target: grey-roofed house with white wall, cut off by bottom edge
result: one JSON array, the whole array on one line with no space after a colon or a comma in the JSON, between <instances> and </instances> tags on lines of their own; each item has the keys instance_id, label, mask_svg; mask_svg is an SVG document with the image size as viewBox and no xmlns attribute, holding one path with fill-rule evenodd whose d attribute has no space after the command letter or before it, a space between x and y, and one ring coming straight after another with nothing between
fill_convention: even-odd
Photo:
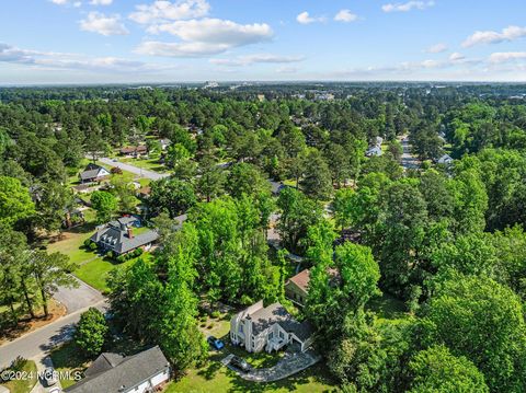
<instances>
[{"instance_id":1,"label":"grey-roofed house with white wall, cut off by bottom edge","mask_svg":"<svg viewBox=\"0 0 526 393\"><path fill-rule=\"evenodd\" d=\"M155 346L134 356L102 354L84 375L65 392L153 392L170 379L170 365L159 346Z\"/></svg>"}]
</instances>

